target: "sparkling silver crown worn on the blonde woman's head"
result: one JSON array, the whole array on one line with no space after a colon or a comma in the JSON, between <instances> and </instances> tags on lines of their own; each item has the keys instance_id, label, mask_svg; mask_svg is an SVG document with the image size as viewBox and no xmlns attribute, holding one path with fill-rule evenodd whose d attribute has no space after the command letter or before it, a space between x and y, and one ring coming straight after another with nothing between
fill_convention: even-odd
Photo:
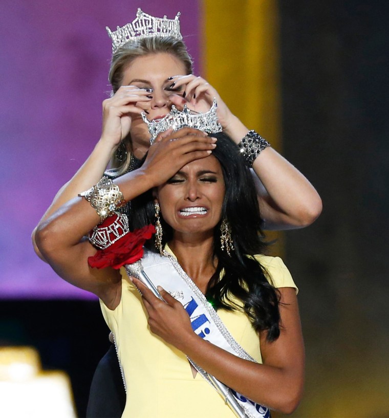
<instances>
[{"instance_id":1,"label":"sparkling silver crown worn on the blonde woman's head","mask_svg":"<svg viewBox=\"0 0 389 418\"><path fill-rule=\"evenodd\" d=\"M154 17L144 13L140 8L137 11L137 17L121 28L118 26L117 30L112 32L109 27L105 27L110 38L112 39L112 53L114 54L124 43L135 40L151 37L172 36L181 40L180 32L180 12L177 13L174 19L168 19L165 16Z\"/></svg>"}]
</instances>

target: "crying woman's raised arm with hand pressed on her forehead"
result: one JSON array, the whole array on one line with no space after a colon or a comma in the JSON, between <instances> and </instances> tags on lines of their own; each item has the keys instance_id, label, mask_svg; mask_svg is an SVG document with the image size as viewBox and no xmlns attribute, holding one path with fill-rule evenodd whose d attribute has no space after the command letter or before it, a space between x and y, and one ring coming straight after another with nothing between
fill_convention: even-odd
<instances>
[{"instance_id":1,"label":"crying woman's raised arm with hand pressed on her forehead","mask_svg":"<svg viewBox=\"0 0 389 418\"><path fill-rule=\"evenodd\" d=\"M167 181L188 162L209 156L214 146L212 138L204 133L184 128L156 141L143 166L118 178L115 183L126 201L133 200ZM87 262L96 250L84 236L99 221L90 203L75 197L39 223L35 241L42 256L60 277L96 294L113 308L120 300L118 272L90 269Z\"/></svg>"}]
</instances>

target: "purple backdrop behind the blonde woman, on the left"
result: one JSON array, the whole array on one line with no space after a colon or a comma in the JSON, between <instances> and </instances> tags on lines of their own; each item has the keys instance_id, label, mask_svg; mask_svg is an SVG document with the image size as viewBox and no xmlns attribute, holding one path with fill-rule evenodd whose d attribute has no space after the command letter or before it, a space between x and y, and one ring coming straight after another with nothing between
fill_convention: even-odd
<instances>
[{"instance_id":1,"label":"purple backdrop behind the blonde woman, on the left","mask_svg":"<svg viewBox=\"0 0 389 418\"><path fill-rule=\"evenodd\" d=\"M111 40L137 8L174 18L199 66L199 5L123 0L15 0L0 13L0 298L93 297L38 259L31 231L99 139Z\"/></svg>"}]
</instances>

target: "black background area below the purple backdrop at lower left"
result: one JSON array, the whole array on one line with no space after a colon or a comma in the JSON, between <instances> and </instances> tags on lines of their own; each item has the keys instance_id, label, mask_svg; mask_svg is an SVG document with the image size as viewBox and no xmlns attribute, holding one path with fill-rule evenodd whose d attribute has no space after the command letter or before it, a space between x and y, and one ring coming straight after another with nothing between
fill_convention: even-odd
<instances>
[{"instance_id":1,"label":"black background area below the purple backdrop at lower left","mask_svg":"<svg viewBox=\"0 0 389 418\"><path fill-rule=\"evenodd\" d=\"M33 346L42 369L66 371L78 416L85 416L93 373L111 344L99 302L3 300L0 318L0 344Z\"/></svg>"}]
</instances>

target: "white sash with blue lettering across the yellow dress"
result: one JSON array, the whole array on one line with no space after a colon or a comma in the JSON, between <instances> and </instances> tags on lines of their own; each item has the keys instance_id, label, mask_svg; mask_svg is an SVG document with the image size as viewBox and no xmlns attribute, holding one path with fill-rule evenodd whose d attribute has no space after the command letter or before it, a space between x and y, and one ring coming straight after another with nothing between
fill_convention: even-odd
<instances>
[{"instance_id":1,"label":"white sash with blue lettering across the yellow dress","mask_svg":"<svg viewBox=\"0 0 389 418\"><path fill-rule=\"evenodd\" d=\"M174 257L166 251L163 257L145 249L141 262L143 266L142 274L144 275L145 273L146 281L152 282L151 284L149 282L145 284L149 288L150 286L154 287L154 289L160 285L171 296L181 302L189 315L192 329L198 336L237 357L256 362L234 340L212 305ZM125 268L129 276L134 275L131 265L126 265ZM135 275L139 276L138 274ZM142 281L145 280L143 279ZM213 376L208 375L205 370L190 359L188 360L200 375L221 394L236 416L240 418L270 418L270 410L267 407L247 399L242 394L219 382Z\"/></svg>"}]
</instances>

